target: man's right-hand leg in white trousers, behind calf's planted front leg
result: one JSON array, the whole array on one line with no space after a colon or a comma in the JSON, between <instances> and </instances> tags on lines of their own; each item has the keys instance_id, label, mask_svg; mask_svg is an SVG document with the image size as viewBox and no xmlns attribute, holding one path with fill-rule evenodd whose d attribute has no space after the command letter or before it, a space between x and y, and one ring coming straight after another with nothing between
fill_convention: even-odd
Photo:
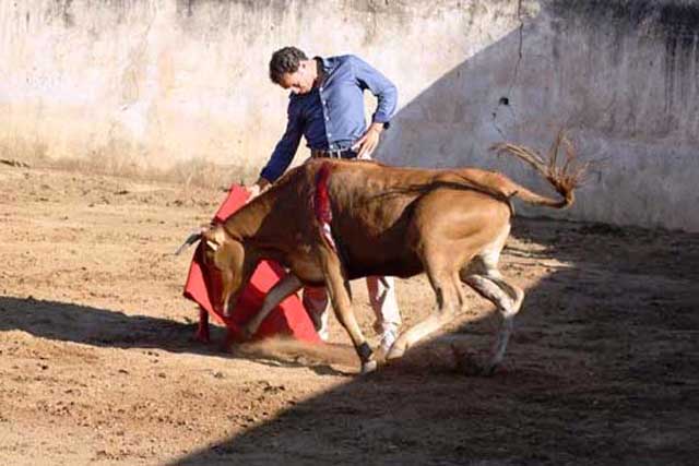
<instances>
[{"instance_id":1,"label":"man's right-hand leg in white trousers, behind calf's planted front leg","mask_svg":"<svg viewBox=\"0 0 699 466\"><path fill-rule=\"evenodd\" d=\"M380 348L386 354L398 338L398 328L401 326L401 312L395 299L395 280L393 277L367 277L367 291L369 303L376 315L374 330L381 335Z\"/></svg>"}]
</instances>

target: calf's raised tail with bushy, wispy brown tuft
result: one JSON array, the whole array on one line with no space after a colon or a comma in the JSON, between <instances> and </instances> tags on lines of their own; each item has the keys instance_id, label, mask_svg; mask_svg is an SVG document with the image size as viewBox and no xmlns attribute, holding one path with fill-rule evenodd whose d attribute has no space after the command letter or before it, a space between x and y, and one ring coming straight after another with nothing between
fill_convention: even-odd
<instances>
[{"instance_id":1,"label":"calf's raised tail with bushy, wispy brown tuft","mask_svg":"<svg viewBox=\"0 0 699 466\"><path fill-rule=\"evenodd\" d=\"M562 164L558 164L558 153L561 147L565 152L565 160ZM562 199L537 194L513 181L513 187L508 190L511 196L519 198L530 204L552 208L566 208L576 201L574 190L584 180L589 168L589 164L576 162L576 151L562 131L558 133L556 141L548 151L548 160L544 160L536 152L521 145L501 143L494 145L491 150L498 154L510 154L526 162L546 178Z\"/></svg>"}]
</instances>

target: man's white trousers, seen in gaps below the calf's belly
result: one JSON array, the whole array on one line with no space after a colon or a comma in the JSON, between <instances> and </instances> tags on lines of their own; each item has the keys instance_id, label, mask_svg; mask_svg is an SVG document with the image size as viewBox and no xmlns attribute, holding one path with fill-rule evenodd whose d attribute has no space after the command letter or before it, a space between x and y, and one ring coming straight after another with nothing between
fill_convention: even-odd
<instances>
[{"instance_id":1,"label":"man's white trousers, seen in gaps below the calf's belly","mask_svg":"<svg viewBox=\"0 0 699 466\"><path fill-rule=\"evenodd\" d=\"M376 321L374 330L378 334L395 331L401 325L401 312L395 300L395 280L393 277L367 277L369 303ZM305 287L304 307L308 311L318 334L328 339L328 291L325 287Z\"/></svg>"}]
</instances>

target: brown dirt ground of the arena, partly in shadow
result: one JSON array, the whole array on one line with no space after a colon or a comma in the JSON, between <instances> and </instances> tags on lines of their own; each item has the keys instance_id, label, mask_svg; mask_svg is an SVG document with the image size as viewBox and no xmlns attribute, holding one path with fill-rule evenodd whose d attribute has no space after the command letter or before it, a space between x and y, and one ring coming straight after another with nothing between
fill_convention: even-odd
<instances>
[{"instance_id":1,"label":"brown dirt ground of the arena, partly in shadow","mask_svg":"<svg viewBox=\"0 0 699 466\"><path fill-rule=\"evenodd\" d=\"M442 335L358 377L334 320L332 345L192 340L171 252L223 196L0 165L0 465L699 461L699 235L517 218L505 367L460 371L452 348L486 351L497 323L469 291ZM424 277L398 287L406 325L433 308Z\"/></svg>"}]
</instances>

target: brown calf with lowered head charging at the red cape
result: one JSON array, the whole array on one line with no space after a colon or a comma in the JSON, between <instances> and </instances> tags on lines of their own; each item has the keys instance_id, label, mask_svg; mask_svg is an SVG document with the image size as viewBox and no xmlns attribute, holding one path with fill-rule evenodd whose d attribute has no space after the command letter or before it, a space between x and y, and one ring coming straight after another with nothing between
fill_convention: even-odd
<instances>
[{"instance_id":1,"label":"brown calf with lowered head charging at the red cape","mask_svg":"<svg viewBox=\"0 0 699 466\"><path fill-rule=\"evenodd\" d=\"M235 304L259 261L277 261L291 273L270 291L248 332L254 333L266 313L303 285L325 285L362 360L362 371L368 372L377 365L352 311L348 280L425 272L437 309L402 333L387 358L401 357L452 319L464 306L464 283L494 302L502 316L491 358L483 368L491 371L502 360L512 318L524 298L497 268L510 232L510 200L554 208L572 204L582 169L572 170L570 159L564 168L556 165L561 142L570 150L559 136L548 164L524 147L495 147L531 164L562 195L560 200L475 168L427 170L371 162L310 160L198 237L206 241L206 262L221 271L224 312ZM329 205L319 205L325 196Z\"/></svg>"}]
</instances>

